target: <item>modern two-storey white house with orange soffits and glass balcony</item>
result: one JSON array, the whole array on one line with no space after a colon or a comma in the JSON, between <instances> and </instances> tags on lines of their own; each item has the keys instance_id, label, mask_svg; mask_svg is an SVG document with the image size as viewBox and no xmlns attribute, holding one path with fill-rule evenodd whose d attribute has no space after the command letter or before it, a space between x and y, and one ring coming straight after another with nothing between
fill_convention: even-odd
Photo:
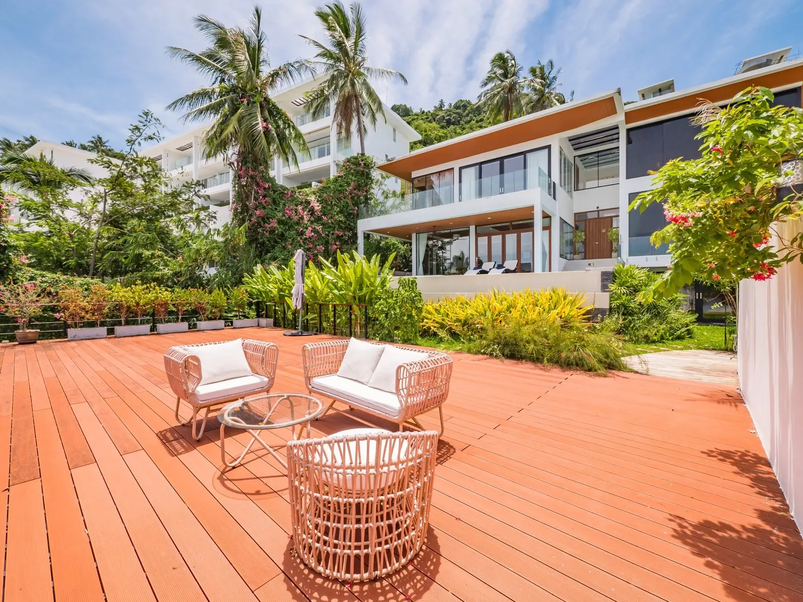
<instances>
[{"instance_id":1,"label":"modern two-storey white house with orange soffits and glass balcony","mask_svg":"<svg viewBox=\"0 0 803 602\"><path fill-rule=\"evenodd\" d=\"M666 269L666 246L650 244L666 225L662 206L628 212L630 202L653 187L649 170L700 157L689 120L700 100L726 103L760 85L777 104L800 107L803 59L788 56L746 59L735 75L694 88L658 83L628 104L620 90L604 92L386 161L379 169L410 193L363 215L358 240L410 241L417 276L462 275L487 261L516 261L519 273L618 261Z\"/></svg>"}]
</instances>

